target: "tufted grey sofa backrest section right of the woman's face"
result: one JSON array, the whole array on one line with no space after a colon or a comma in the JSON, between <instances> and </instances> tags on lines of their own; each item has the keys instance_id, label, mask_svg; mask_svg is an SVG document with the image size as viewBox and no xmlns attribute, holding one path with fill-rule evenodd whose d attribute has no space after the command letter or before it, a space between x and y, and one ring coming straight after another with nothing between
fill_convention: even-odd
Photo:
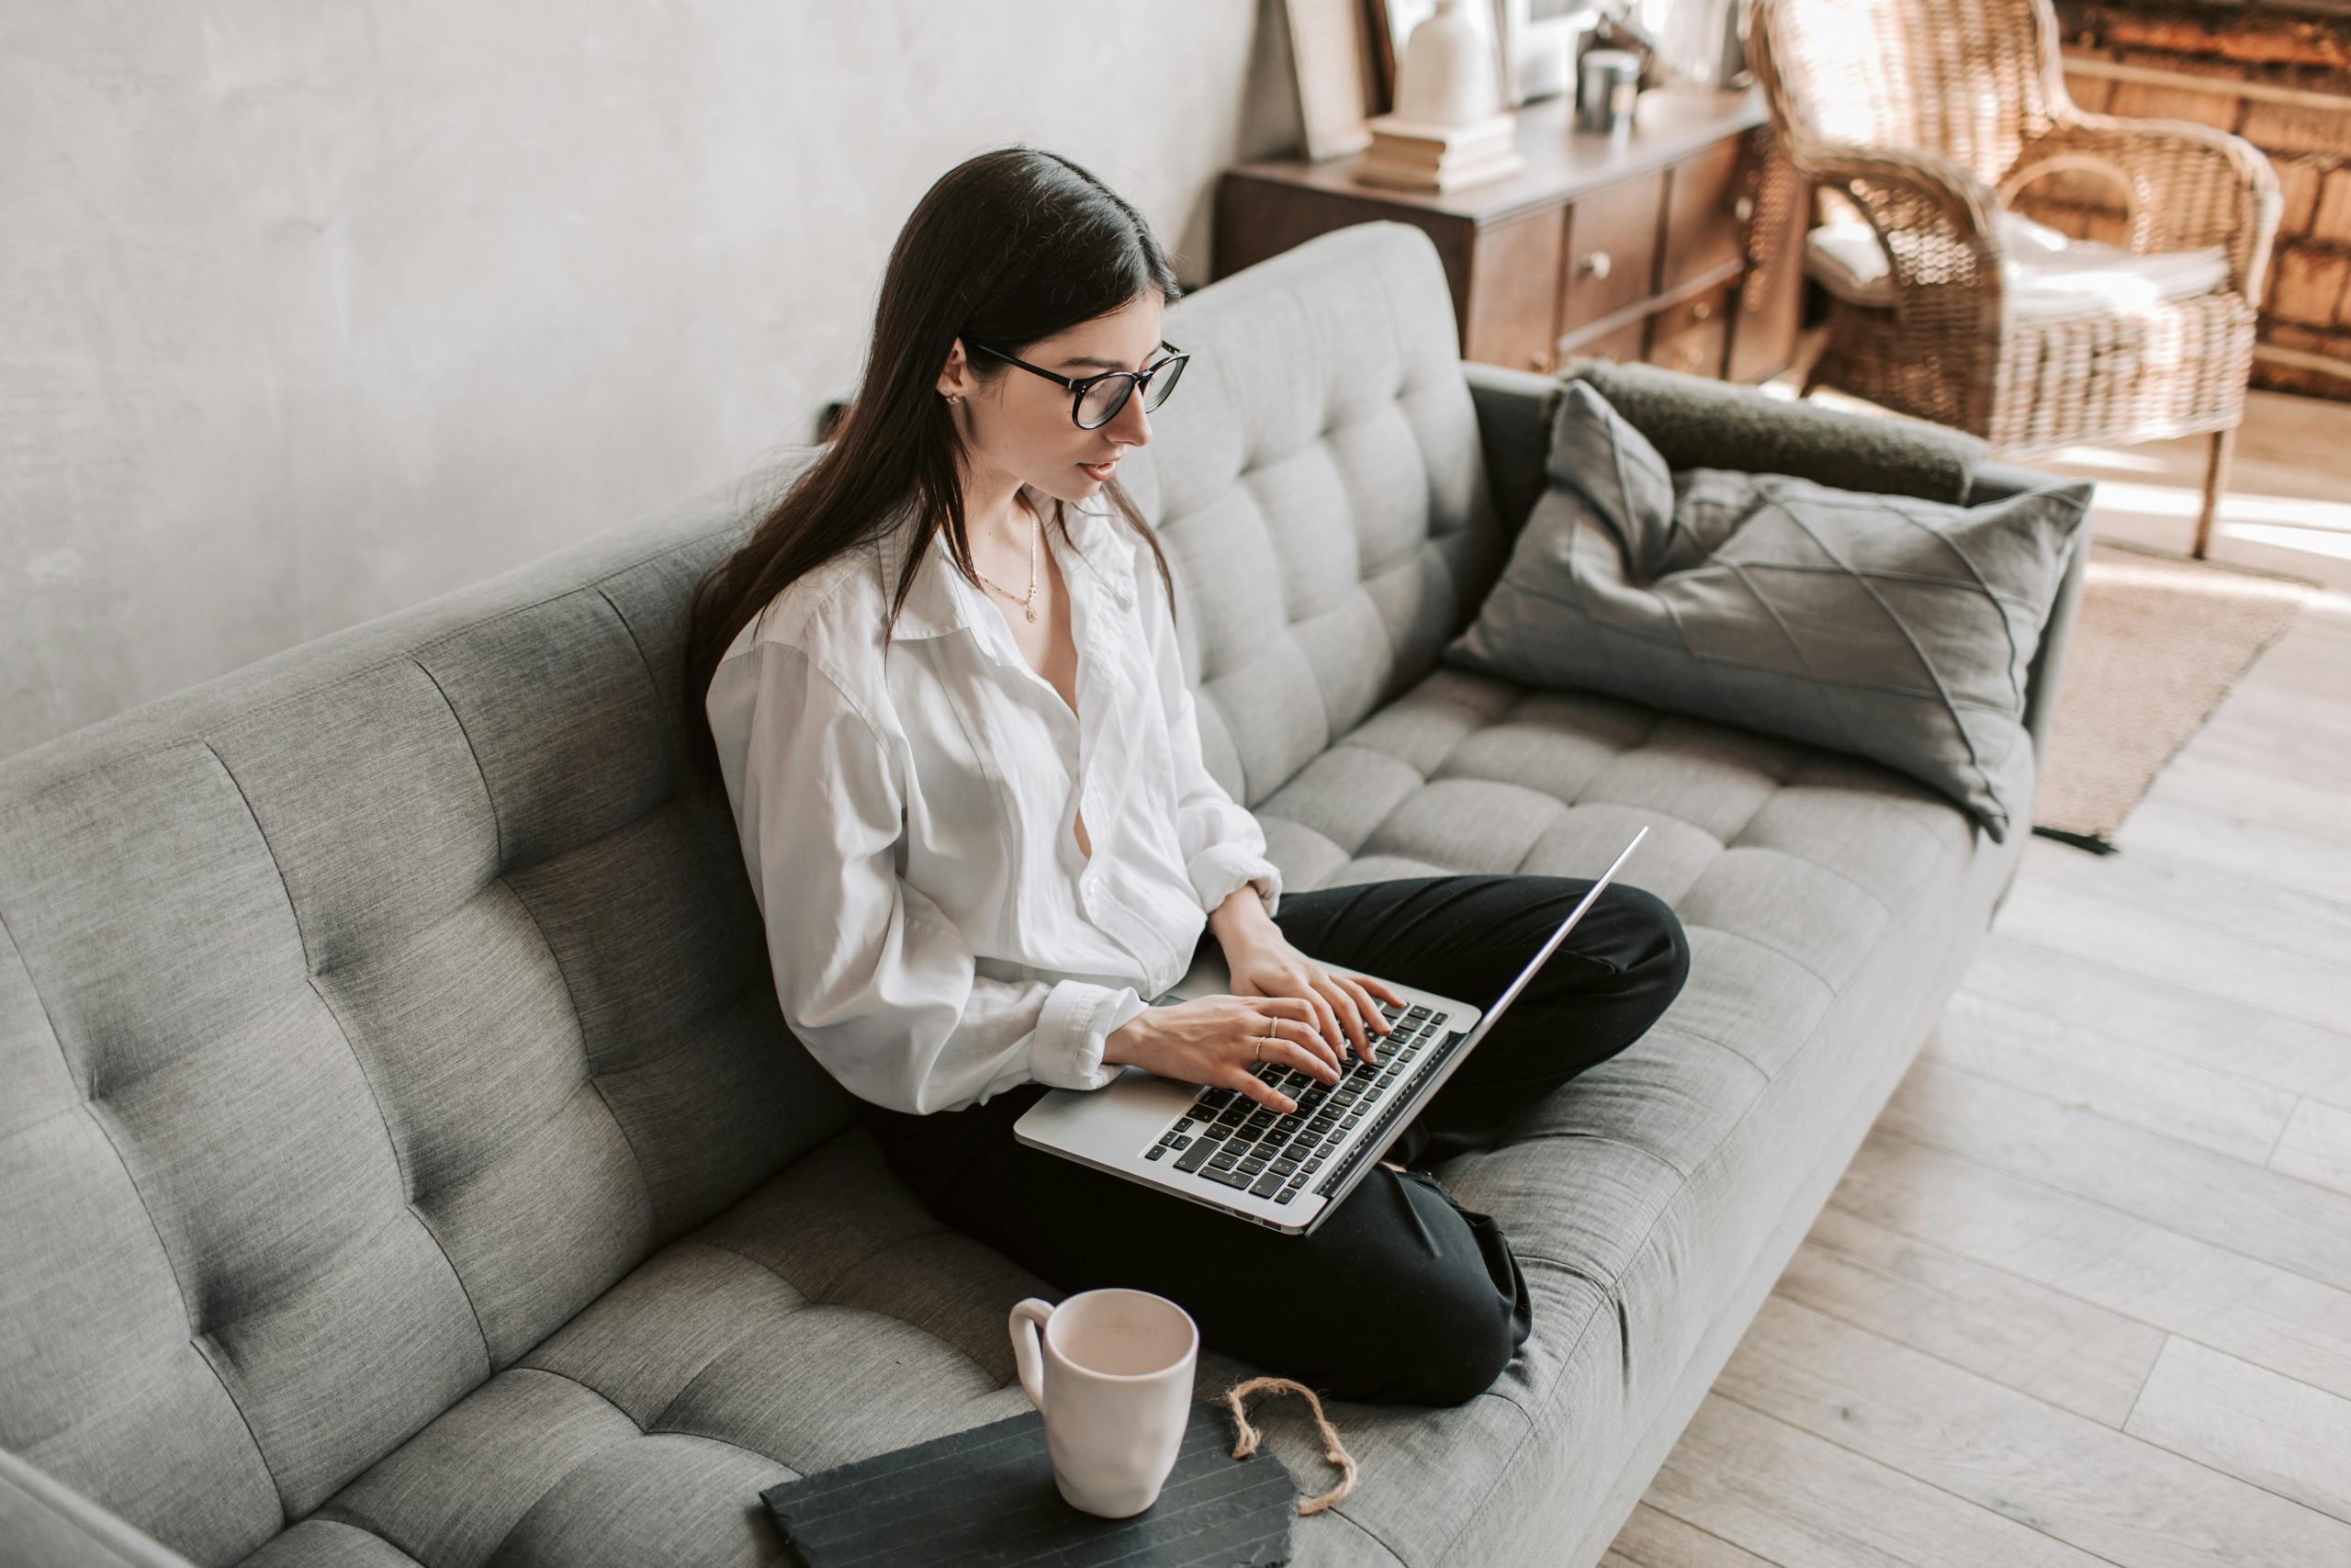
<instances>
[{"instance_id":1,"label":"tufted grey sofa backrest section right of the woman's face","mask_svg":"<svg viewBox=\"0 0 2351 1568\"><path fill-rule=\"evenodd\" d=\"M1509 541L1444 263L1340 228L1178 301L1192 353L1121 470L1176 576L1201 750L1255 806L1418 682Z\"/></svg>"}]
</instances>

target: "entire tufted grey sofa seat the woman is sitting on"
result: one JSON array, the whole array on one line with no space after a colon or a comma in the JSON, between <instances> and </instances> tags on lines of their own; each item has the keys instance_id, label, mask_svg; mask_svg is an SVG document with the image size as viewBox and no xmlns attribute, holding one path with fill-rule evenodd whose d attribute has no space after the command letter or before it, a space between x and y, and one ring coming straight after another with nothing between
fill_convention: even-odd
<instances>
[{"instance_id":1,"label":"entire tufted grey sofa seat the woman is sitting on","mask_svg":"<svg viewBox=\"0 0 2351 1568\"><path fill-rule=\"evenodd\" d=\"M1888 997L1940 994L1940 926L1970 919L1965 884L2015 846L1855 757L1458 668L1258 818L1298 889L1592 875L1648 823L1627 879L1690 936L1690 980L1657 1027L1533 1105L1502 1147L1436 1171L1519 1251L1535 1293L1519 1359L1460 1408L1331 1406L1364 1481L1300 1521L1298 1561L1472 1561L1483 1502L1523 1469L1568 1465L1561 1497L1606 1483L1556 1455L1629 1441L1615 1422L1679 1375L1768 1229L1747 1208L1784 1206L1824 1128L1850 1121L1846 1100L1883 1077L1871 1051L1907 1027L1886 1023ZM759 1488L1025 1408L1004 1333L1023 1295L1056 1293L938 1225L851 1128L249 1561L781 1561ZM1199 1392L1253 1371L1204 1347ZM1319 1486L1288 1403L1270 1441Z\"/></svg>"}]
</instances>

